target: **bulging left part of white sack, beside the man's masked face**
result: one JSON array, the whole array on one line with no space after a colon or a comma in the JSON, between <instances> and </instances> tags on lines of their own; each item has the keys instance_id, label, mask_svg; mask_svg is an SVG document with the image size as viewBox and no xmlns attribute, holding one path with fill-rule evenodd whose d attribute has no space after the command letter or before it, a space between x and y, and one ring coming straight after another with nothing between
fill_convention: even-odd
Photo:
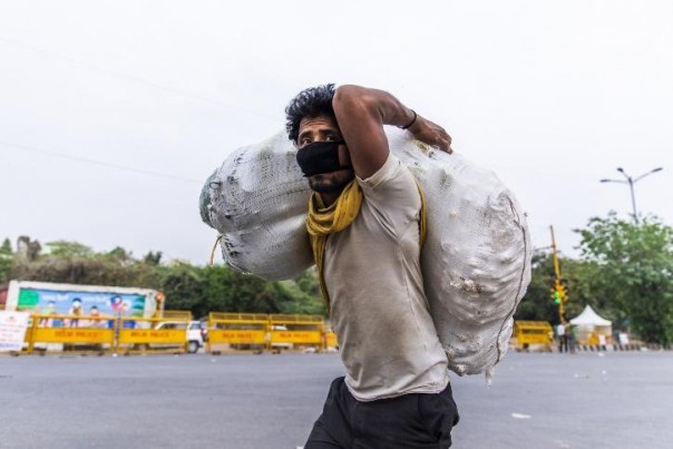
<instances>
[{"instance_id":1,"label":"bulging left part of white sack, beside the man's masked face","mask_svg":"<svg viewBox=\"0 0 673 449\"><path fill-rule=\"evenodd\" d=\"M226 158L202 189L201 217L220 231L227 265L270 281L292 279L313 265L310 196L296 149L281 131Z\"/></svg>"}]
</instances>

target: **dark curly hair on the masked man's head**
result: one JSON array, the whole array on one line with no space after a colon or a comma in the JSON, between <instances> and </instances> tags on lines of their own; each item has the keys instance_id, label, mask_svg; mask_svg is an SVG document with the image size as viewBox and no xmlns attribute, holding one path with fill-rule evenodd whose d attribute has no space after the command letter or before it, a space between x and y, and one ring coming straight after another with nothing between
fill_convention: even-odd
<instances>
[{"instance_id":1,"label":"dark curly hair on the masked man's head","mask_svg":"<svg viewBox=\"0 0 673 449\"><path fill-rule=\"evenodd\" d=\"M299 92L285 108L285 129L290 140L296 141L299 137L299 124L302 118L315 118L328 116L335 119L332 99L334 98L334 85L310 87Z\"/></svg>"}]
</instances>

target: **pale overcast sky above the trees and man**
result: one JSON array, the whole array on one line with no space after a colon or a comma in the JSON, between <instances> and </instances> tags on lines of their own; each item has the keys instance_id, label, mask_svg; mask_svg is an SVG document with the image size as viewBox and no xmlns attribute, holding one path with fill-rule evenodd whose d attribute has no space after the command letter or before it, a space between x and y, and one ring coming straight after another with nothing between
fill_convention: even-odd
<instances>
[{"instance_id":1,"label":"pale overcast sky above the trees and man","mask_svg":"<svg viewBox=\"0 0 673 449\"><path fill-rule=\"evenodd\" d=\"M673 224L673 2L0 0L0 237L205 263L205 178L324 82L442 125L577 256L573 228Z\"/></svg>"}]
</instances>

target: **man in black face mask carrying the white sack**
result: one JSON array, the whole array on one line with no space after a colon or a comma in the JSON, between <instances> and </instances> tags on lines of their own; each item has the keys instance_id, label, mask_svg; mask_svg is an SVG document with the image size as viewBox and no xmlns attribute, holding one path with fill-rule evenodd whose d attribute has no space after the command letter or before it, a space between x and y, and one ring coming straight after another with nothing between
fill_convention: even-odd
<instances>
[{"instance_id":1,"label":"man in black face mask carrying the white sack","mask_svg":"<svg viewBox=\"0 0 673 449\"><path fill-rule=\"evenodd\" d=\"M447 448L458 411L423 291L423 193L383 126L447 153L451 138L390 94L358 86L306 89L285 111L313 191L306 230L347 372L305 448Z\"/></svg>"}]
</instances>

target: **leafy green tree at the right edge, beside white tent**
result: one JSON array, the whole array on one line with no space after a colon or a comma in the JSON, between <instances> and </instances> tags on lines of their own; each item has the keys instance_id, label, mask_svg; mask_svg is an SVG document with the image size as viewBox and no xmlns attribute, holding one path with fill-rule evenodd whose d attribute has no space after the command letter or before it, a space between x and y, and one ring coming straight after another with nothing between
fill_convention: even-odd
<instances>
[{"instance_id":1,"label":"leafy green tree at the right edge, beside white tent","mask_svg":"<svg viewBox=\"0 0 673 449\"><path fill-rule=\"evenodd\" d=\"M673 342L673 228L657 218L634 224L611 213L577 232L589 263L588 290L602 295L615 324L631 324L646 342Z\"/></svg>"}]
</instances>

